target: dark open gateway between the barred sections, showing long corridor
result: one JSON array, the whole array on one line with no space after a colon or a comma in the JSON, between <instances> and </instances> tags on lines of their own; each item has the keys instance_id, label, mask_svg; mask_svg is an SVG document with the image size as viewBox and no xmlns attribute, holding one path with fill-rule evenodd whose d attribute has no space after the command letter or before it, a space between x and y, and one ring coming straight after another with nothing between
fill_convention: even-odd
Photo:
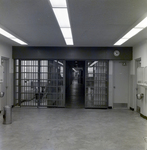
<instances>
[{"instance_id":1,"label":"dark open gateway between the barred sections, showing long corridor","mask_svg":"<svg viewBox=\"0 0 147 150\"><path fill-rule=\"evenodd\" d=\"M85 61L66 61L66 107L85 107Z\"/></svg>"}]
</instances>

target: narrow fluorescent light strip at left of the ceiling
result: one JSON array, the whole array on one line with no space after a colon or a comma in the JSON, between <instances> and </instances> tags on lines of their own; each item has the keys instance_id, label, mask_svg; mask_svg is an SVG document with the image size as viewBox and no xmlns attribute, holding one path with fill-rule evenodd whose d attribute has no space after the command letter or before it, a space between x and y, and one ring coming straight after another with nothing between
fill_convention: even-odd
<instances>
[{"instance_id":1,"label":"narrow fluorescent light strip at left of the ceiling","mask_svg":"<svg viewBox=\"0 0 147 150\"><path fill-rule=\"evenodd\" d=\"M5 31L4 29L0 28L0 34L9 38L10 40L17 42L21 45L28 45L27 43L23 42L22 40L16 38L15 36L13 36L12 34L10 34L9 32Z\"/></svg>"}]
</instances>

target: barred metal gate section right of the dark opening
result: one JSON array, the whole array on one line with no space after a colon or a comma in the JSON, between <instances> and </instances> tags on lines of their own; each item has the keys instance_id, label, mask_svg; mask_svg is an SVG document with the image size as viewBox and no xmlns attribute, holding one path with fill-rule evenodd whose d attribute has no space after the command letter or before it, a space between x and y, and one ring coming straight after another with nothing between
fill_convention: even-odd
<instances>
[{"instance_id":1,"label":"barred metal gate section right of the dark opening","mask_svg":"<svg viewBox=\"0 0 147 150\"><path fill-rule=\"evenodd\" d=\"M86 61L85 107L108 107L108 61Z\"/></svg>"}]
</instances>

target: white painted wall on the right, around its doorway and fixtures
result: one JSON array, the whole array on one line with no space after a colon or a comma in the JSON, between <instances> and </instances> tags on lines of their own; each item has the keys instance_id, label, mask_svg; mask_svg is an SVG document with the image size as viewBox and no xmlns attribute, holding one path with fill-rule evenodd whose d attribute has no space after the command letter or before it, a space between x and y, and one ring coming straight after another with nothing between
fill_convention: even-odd
<instances>
[{"instance_id":1,"label":"white painted wall on the right, around its doorway and fixtures","mask_svg":"<svg viewBox=\"0 0 147 150\"><path fill-rule=\"evenodd\" d=\"M142 43L139 43L138 45L133 47L133 60L130 63L130 75L135 76L135 60L141 58L141 67L147 66L147 40L143 41ZM136 110L136 103L135 103L135 78L133 79L133 90L132 90L132 98L130 99L130 104L132 108ZM140 87L140 92L144 93L145 98L140 101L140 107L141 107L141 114L147 116L147 90L145 90L143 87Z\"/></svg>"}]
</instances>

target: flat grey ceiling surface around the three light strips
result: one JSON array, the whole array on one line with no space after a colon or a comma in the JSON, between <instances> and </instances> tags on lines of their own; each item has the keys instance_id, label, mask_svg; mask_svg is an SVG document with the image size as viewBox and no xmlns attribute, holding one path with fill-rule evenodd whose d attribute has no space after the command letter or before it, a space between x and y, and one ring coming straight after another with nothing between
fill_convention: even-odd
<instances>
[{"instance_id":1,"label":"flat grey ceiling surface around the three light strips","mask_svg":"<svg viewBox=\"0 0 147 150\"><path fill-rule=\"evenodd\" d=\"M67 0L74 46L113 46L147 13L147 0ZM66 46L48 0L1 0L0 26L29 46ZM147 38L147 30L122 46ZM18 45L0 35L9 45Z\"/></svg>"}]
</instances>

